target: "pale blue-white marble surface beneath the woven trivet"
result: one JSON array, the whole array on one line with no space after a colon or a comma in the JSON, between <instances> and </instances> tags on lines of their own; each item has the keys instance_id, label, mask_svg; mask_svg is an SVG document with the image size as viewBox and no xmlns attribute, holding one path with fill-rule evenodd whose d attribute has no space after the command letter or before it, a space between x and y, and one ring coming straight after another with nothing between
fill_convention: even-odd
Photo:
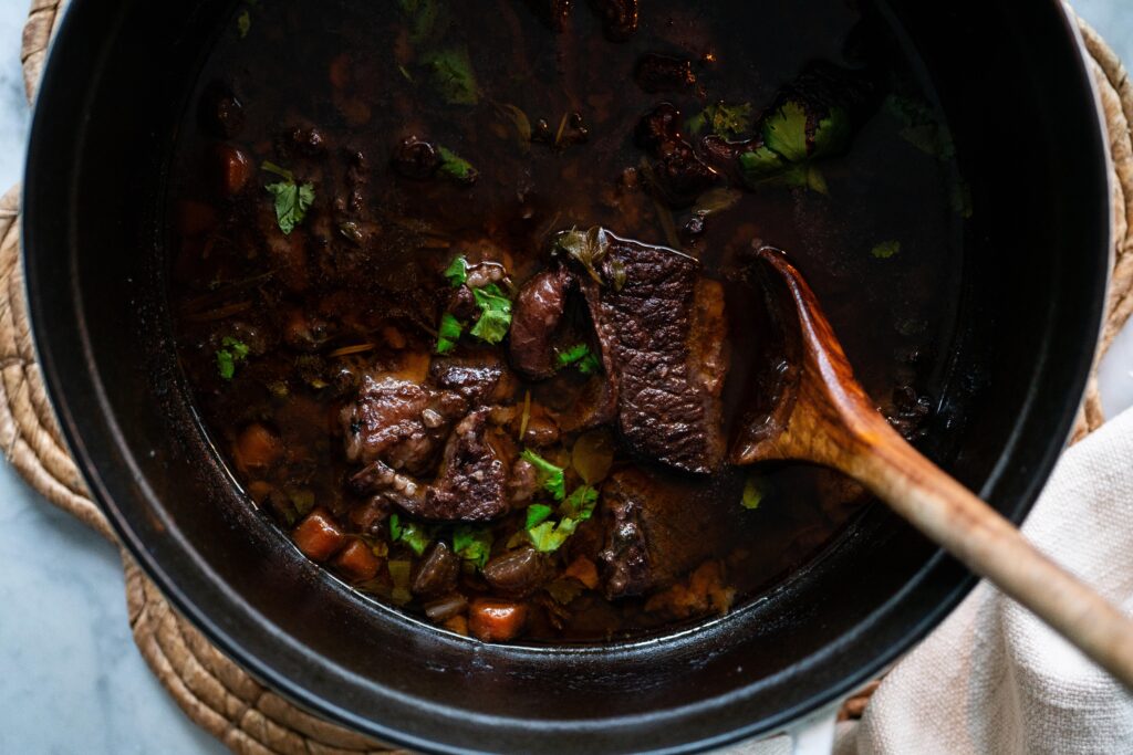
<instances>
[{"instance_id":1,"label":"pale blue-white marble surface beneath the woven trivet","mask_svg":"<svg viewBox=\"0 0 1133 755\"><path fill-rule=\"evenodd\" d=\"M0 190L19 180L27 0L0 0ZM1133 2L1079 0L1125 60ZM1133 405L1133 328L1104 366L1106 410ZM0 753L223 753L150 675L130 638L118 556L0 464Z\"/></svg>"}]
</instances>

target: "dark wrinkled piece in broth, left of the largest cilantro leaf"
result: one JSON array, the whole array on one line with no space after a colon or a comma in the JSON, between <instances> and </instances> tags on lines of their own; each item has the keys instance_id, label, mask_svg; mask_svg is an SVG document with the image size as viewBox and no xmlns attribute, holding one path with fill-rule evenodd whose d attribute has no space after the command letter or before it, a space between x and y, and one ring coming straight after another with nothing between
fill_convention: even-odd
<instances>
[{"instance_id":1,"label":"dark wrinkled piece in broth, left of the largest cilantro leaf","mask_svg":"<svg viewBox=\"0 0 1133 755\"><path fill-rule=\"evenodd\" d=\"M638 144L649 152L653 163L653 188L673 207L684 207L710 189L719 173L697 156L681 134L681 112L662 104L638 125Z\"/></svg>"}]
</instances>

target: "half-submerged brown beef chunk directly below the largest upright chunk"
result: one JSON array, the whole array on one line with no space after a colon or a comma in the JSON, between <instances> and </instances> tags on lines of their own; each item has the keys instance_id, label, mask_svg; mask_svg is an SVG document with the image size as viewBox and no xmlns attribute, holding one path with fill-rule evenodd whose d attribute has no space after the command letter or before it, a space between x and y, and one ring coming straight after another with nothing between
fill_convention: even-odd
<instances>
[{"instance_id":1,"label":"half-submerged brown beef chunk directly below the largest upright chunk","mask_svg":"<svg viewBox=\"0 0 1133 755\"><path fill-rule=\"evenodd\" d=\"M615 472L603 486L605 543L598 558L608 598L666 587L742 537L743 478L725 472L708 484L649 470Z\"/></svg>"}]
</instances>

